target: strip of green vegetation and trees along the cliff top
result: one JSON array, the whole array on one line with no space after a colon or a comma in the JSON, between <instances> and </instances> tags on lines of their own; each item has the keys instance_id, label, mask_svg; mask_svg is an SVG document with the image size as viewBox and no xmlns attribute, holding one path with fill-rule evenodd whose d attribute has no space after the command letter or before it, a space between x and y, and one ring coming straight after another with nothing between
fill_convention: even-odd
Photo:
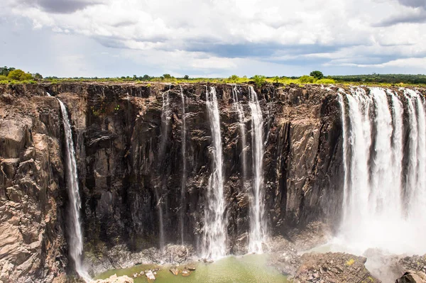
<instances>
[{"instance_id":1,"label":"strip of green vegetation and trees along the cliff top","mask_svg":"<svg viewBox=\"0 0 426 283\"><path fill-rule=\"evenodd\" d=\"M138 77L134 74L132 77L73 77L73 78L59 78L59 77L43 77L38 74L30 74L22 70L16 70L13 67L0 67L0 84L23 84L36 82L45 82L56 84L59 82L136 82L137 84L146 84L149 82L166 82L166 83L228 83L228 84L243 84L253 82L258 87L266 83L275 84L366 84L366 85L425 85L425 74L360 74L360 75L347 75L347 76L327 76L320 71L312 71L309 75L302 77L265 77L256 74L253 77L239 77L236 74L228 78L192 78L188 75L183 77L173 77L170 74L163 74L160 77L151 77L145 74Z\"/></svg>"}]
</instances>

